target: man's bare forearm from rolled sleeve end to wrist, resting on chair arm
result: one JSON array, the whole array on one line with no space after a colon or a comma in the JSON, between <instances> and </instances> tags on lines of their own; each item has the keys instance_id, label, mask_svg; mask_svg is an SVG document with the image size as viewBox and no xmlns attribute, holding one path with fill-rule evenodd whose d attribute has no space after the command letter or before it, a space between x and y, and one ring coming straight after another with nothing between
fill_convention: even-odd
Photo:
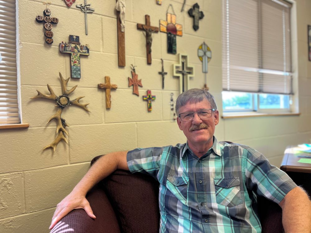
<instances>
[{"instance_id":1,"label":"man's bare forearm from rolled sleeve end to wrist, resting on chair arm","mask_svg":"<svg viewBox=\"0 0 311 233\"><path fill-rule=\"evenodd\" d=\"M75 186L72 192L85 196L95 184L109 176L116 169L128 170L126 154L127 151L114 152L99 158Z\"/></svg>"}]
</instances>

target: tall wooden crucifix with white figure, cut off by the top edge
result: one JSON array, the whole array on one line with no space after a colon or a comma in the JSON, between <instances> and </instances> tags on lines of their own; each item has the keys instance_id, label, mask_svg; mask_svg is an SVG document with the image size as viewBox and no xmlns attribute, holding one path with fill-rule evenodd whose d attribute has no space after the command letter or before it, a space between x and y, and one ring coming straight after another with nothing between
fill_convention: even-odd
<instances>
[{"instance_id":1,"label":"tall wooden crucifix with white figure, cut off by the top edge","mask_svg":"<svg viewBox=\"0 0 311 233\"><path fill-rule=\"evenodd\" d=\"M125 2L116 0L118 31L118 66L125 66Z\"/></svg>"}]
</instances>

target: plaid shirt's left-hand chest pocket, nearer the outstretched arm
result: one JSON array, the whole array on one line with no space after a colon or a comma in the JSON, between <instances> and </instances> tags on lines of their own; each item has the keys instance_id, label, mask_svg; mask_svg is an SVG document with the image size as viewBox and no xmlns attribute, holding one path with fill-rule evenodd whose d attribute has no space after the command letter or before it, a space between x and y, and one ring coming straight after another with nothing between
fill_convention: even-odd
<instances>
[{"instance_id":1,"label":"plaid shirt's left-hand chest pocket, nearer the outstretched arm","mask_svg":"<svg viewBox=\"0 0 311 233\"><path fill-rule=\"evenodd\" d=\"M188 176L167 176L166 188L180 201L188 199Z\"/></svg>"}]
</instances>

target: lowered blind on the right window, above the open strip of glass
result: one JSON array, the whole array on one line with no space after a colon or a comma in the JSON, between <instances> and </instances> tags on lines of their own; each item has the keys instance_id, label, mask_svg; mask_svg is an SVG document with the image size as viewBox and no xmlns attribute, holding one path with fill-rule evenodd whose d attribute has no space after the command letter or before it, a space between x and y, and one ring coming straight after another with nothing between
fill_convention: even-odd
<instances>
[{"instance_id":1,"label":"lowered blind on the right window, above the open strip of glass","mask_svg":"<svg viewBox=\"0 0 311 233\"><path fill-rule=\"evenodd\" d=\"M293 94L290 8L283 0L223 0L223 90Z\"/></svg>"}]
</instances>

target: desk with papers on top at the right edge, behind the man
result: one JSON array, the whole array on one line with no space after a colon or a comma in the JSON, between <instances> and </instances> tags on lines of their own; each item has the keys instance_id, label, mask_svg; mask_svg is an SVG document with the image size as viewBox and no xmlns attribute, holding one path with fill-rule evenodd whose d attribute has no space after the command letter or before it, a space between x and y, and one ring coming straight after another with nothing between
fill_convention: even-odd
<instances>
[{"instance_id":1,"label":"desk with papers on top at the right edge, behind the man","mask_svg":"<svg viewBox=\"0 0 311 233\"><path fill-rule=\"evenodd\" d=\"M301 185L309 194L311 194L311 164L298 162L298 156L307 155L311 153L297 152L296 146L289 146L284 152L283 161L281 163L281 170L285 171L287 175L297 184Z\"/></svg>"}]
</instances>

